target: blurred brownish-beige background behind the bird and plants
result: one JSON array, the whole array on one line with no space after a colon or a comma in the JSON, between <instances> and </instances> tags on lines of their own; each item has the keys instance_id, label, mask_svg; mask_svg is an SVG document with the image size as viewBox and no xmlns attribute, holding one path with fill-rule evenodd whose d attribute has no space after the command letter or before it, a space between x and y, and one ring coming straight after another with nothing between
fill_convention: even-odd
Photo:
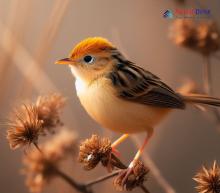
<instances>
[{"instance_id":1,"label":"blurred brownish-beige background behind the bird and plants","mask_svg":"<svg viewBox=\"0 0 220 193\"><path fill-rule=\"evenodd\" d=\"M220 25L220 1L162 0L0 0L0 119L24 101L38 95L58 91L67 97L63 112L65 125L75 130L79 139L100 134L112 139L119 135L100 128L81 107L68 68L54 61L68 55L72 47L89 36L111 40L133 62L153 72L172 88L192 79L202 88L201 54L177 47L168 38L173 19L163 18L167 9L200 8L211 10L212 19ZM202 19L200 19L202 20ZM220 61L212 58L214 95L220 97ZM21 175L22 150L12 151L0 134L0 192L25 193L25 177ZM143 135L137 135L138 141ZM135 139L137 139L135 138ZM195 192L192 177L202 164L220 160L220 132L215 117L198 109L175 111L155 128L155 134L145 150L160 171L170 192ZM119 148L126 163L136 151L134 141ZM98 167L85 172L76 160L63 164L63 170L79 181L104 174ZM146 183L152 193L164 190L157 177L150 174ZM116 192L112 180L94 187L96 192ZM45 193L74 192L68 184L55 179ZM140 190L134 190L140 192Z\"/></svg>"}]
</instances>

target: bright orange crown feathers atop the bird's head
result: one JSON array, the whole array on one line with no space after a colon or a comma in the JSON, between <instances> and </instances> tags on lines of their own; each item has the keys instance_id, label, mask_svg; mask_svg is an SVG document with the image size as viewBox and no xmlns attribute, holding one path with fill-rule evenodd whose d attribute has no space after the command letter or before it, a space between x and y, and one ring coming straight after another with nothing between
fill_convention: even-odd
<instances>
[{"instance_id":1,"label":"bright orange crown feathers atop the bird's head","mask_svg":"<svg viewBox=\"0 0 220 193\"><path fill-rule=\"evenodd\" d=\"M87 53L96 53L114 46L107 39L102 37L89 37L78 43L70 53L70 58L78 58Z\"/></svg>"}]
</instances>

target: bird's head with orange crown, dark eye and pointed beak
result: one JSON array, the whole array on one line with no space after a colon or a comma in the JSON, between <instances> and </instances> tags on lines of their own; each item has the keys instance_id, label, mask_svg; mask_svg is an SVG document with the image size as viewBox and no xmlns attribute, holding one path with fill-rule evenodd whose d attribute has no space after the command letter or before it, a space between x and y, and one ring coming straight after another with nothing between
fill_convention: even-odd
<instances>
[{"instance_id":1,"label":"bird's head with orange crown, dark eye and pointed beak","mask_svg":"<svg viewBox=\"0 0 220 193\"><path fill-rule=\"evenodd\" d=\"M58 60L56 64L70 65L76 78L91 82L113 68L114 52L117 49L107 39L90 37L78 43L68 58Z\"/></svg>"}]
</instances>

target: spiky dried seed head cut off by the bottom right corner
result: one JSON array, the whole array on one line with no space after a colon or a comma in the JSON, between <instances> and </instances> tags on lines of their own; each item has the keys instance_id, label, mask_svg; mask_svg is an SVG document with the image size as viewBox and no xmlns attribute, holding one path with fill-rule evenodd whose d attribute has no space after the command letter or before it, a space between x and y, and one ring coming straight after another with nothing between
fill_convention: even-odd
<instances>
[{"instance_id":1,"label":"spiky dried seed head cut off by the bottom right corner","mask_svg":"<svg viewBox=\"0 0 220 193\"><path fill-rule=\"evenodd\" d=\"M210 169L203 166L202 170L193 179L197 182L197 192L220 193L220 168L216 161Z\"/></svg>"}]
</instances>

